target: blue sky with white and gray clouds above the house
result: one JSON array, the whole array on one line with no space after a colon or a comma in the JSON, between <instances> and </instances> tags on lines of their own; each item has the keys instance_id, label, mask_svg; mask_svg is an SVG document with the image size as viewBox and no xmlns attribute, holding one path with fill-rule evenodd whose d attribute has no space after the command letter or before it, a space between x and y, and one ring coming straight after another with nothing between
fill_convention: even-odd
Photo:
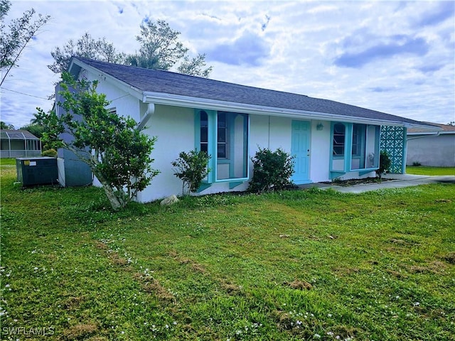
<instances>
[{"instance_id":1,"label":"blue sky with white and gray clouds above the house","mask_svg":"<svg viewBox=\"0 0 455 341\"><path fill-rule=\"evenodd\" d=\"M12 1L52 18L1 89L1 121L28 124L58 76L50 51L88 32L139 48L146 18L206 53L210 78L419 121L455 121L455 1Z\"/></svg>"}]
</instances>

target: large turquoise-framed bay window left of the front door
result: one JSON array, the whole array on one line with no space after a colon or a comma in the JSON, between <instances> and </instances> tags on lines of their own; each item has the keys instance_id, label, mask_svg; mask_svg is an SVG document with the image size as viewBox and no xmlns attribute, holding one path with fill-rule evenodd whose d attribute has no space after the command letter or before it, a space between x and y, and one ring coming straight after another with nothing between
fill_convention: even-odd
<instances>
[{"instance_id":1,"label":"large turquoise-framed bay window left of the front door","mask_svg":"<svg viewBox=\"0 0 455 341\"><path fill-rule=\"evenodd\" d=\"M248 122L247 114L196 110L196 146L211 156L208 183L248 178Z\"/></svg>"}]
</instances>

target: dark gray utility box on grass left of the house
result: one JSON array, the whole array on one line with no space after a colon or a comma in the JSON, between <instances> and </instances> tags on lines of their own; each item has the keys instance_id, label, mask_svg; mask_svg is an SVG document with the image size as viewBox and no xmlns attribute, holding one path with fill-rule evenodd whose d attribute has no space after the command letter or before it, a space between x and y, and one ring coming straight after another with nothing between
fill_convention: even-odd
<instances>
[{"instance_id":1,"label":"dark gray utility box on grass left of the house","mask_svg":"<svg viewBox=\"0 0 455 341\"><path fill-rule=\"evenodd\" d=\"M18 182L23 186L57 184L57 159L45 156L16 158L16 173Z\"/></svg>"}]
</instances>

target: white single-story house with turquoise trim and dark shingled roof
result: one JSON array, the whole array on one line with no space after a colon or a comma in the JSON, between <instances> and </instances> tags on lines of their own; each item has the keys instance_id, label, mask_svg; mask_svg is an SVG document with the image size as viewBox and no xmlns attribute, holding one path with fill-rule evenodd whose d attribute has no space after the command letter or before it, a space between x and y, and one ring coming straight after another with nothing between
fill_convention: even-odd
<instances>
[{"instance_id":1,"label":"white single-story house with turquoise trim and dark shingled roof","mask_svg":"<svg viewBox=\"0 0 455 341\"><path fill-rule=\"evenodd\" d=\"M407 127L431 129L349 104L174 72L79 57L68 70L98 80L97 91L111 101L107 109L129 115L146 126L145 134L157 136L152 166L161 173L139 193L141 202L181 193L171 166L181 151L197 148L212 156L200 193L218 193L247 188L258 147L294 155L296 184L375 176L380 148L402 173Z\"/></svg>"}]
</instances>

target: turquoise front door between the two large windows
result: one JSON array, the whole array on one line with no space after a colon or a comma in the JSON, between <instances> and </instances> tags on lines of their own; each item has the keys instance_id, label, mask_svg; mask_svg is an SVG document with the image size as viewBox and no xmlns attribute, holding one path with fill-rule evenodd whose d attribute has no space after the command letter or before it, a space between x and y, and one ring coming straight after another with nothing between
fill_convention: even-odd
<instances>
[{"instance_id":1,"label":"turquoise front door between the two large windows","mask_svg":"<svg viewBox=\"0 0 455 341\"><path fill-rule=\"evenodd\" d=\"M296 185L311 183L310 180L310 131L308 121L292 121L291 155L294 158L294 175L291 180Z\"/></svg>"}]
</instances>

